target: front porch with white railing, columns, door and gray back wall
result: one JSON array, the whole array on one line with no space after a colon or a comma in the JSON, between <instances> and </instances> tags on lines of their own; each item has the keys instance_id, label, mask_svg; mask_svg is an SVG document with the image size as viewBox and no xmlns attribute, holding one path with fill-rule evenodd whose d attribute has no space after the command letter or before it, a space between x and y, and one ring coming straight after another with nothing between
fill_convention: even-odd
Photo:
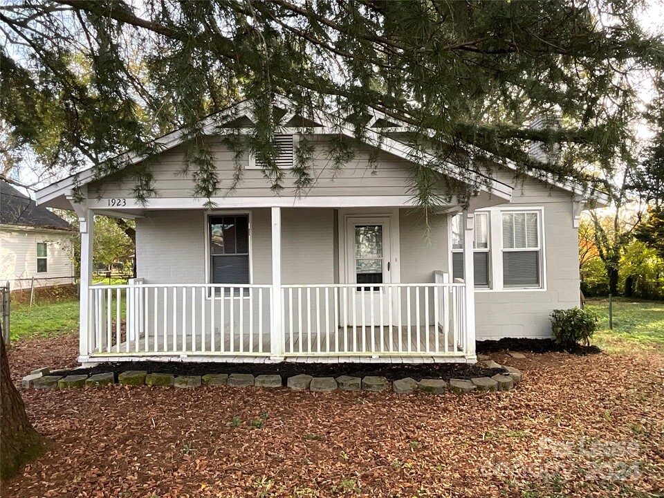
<instances>
[{"instance_id":1,"label":"front porch with white railing, columns, door and gray back wall","mask_svg":"<svg viewBox=\"0 0 664 498\"><path fill-rule=\"evenodd\" d=\"M81 362L475 360L474 289L436 269L451 266L446 216L425 249L395 207L136 213L140 278L107 286L86 282L83 214Z\"/></svg>"}]
</instances>

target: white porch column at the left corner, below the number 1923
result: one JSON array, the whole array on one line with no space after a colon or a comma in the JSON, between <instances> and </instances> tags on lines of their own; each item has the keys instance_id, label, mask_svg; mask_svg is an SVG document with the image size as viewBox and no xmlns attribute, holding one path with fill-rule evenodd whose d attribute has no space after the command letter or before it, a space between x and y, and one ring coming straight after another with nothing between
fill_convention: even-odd
<instances>
[{"instance_id":1,"label":"white porch column at the left corner, below the number 1923","mask_svg":"<svg viewBox=\"0 0 664 498\"><path fill-rule=\"evenodd\" d=\"M95 214L89 210L82 211L78 219L81 232L81 297L79 316L79 354L80 359L89 356L90 337L90 286L92 285L92 252L95 238Z\"/></svg>"}]
</instances>

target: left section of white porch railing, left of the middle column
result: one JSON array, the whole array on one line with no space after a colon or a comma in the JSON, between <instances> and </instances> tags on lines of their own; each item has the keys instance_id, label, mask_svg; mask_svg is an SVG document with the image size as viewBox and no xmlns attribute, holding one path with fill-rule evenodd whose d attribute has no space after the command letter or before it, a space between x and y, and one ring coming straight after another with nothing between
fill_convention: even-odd
<instances>
[{"instance_id":1,"label":"left section of white porch railing, left of the middle column","mask_svg":"<svg viewBox=\"0 0 664 498\"><path fill-rule=\"evenodd\" d=\"M92 355L269 356L270 286L95 285L89 289Z\"/></svg>"}]
</instances>

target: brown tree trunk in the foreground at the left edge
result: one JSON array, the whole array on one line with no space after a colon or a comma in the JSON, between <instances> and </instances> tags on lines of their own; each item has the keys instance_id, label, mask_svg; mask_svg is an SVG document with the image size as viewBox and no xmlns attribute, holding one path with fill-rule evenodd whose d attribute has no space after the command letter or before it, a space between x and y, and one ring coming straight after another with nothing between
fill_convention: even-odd
<instances>
[{"instance_id":1,"label":"brown tree trunk in the foreground at the left edge","mask_svg":"<svg viewBox=\"0 0 664 498\"><path fill-rule=\"evenodd\" d=\"M9 373L5 340L0 332L0 479L42 453L45 441L28 420L23 399Z\"/></svg>"}]
</instances>

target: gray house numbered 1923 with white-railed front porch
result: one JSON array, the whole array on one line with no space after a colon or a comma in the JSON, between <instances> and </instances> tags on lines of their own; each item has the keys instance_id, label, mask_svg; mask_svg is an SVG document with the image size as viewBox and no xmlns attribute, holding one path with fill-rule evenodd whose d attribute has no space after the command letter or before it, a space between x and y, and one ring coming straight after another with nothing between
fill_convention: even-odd
<instances>
[{"instance_id":1,"label":"gray house numbered 1923 with white-railed front porch","mask_svg":"<svg viewBox=\"0 0 664 498\"><path fill-rule=\"evenodd\" d=\"M234 154L211 136L225 190L206 210L182 174L179 132L158 140L147 205L132 194L140 157L124 180L89 169L37 192L82 221L80 361L474 362L476 340L549 337L551 310L578 306L578 216L598 199L577 185L517 182L505 166L487 181L450 165L445 175L483 180L480 191L468 210L451 203L432 219L427 241L412 214L409 147L386 137L374 174L366 145L334 177L325 145L351 127L307 118L315 183L302 195L290 175L275 195L248 157L229 192ZM240 104L203 124L223 133L250 119ZM284 168L302 132L291 123L302 120L282 120ZM367 135L384 125L376 116ZM127 286L91 286L95 213L136 219L138 279Z\"/></svg>"}]
</instances>

